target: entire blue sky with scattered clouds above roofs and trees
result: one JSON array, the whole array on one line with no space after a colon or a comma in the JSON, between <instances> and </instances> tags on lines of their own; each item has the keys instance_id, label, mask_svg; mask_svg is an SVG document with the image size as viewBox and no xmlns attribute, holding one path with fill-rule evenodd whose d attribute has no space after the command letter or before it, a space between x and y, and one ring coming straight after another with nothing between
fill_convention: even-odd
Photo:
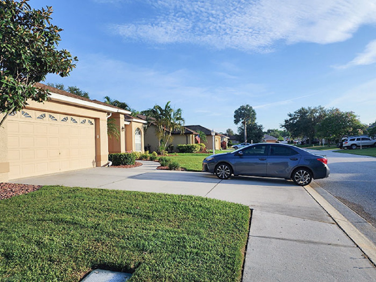
<instances>
[{"instance_id":1,"label":"entire blue sky with scattered clouds above roofs and trees","mask_svg":"<svg viewBox=\"0 0 376 282\"><path fill-rule=\"evenodd\" d=\"M283 4L281 4L283 3ZM53 6L59 48L79 58L63 83L139 111L171 101L186 124L264 129L324 106L376 120L374 0L30 0Z\"/></svg>"}]
</instances>

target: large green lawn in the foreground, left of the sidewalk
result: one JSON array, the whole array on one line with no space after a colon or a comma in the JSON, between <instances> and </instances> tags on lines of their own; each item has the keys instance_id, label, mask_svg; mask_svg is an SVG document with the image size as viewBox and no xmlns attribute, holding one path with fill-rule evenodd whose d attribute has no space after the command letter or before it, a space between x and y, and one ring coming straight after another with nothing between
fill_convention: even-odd
<instances>
[{"instance_id":1,"label":"large green lawn in the foreground, left of the sidewalk","mask_svg":"<svg viewBox=\"0 0 376 282\"><path fill-rule=\"evenodd\" d=\"M247 206L215 199L44 186L0 201L0 281L240 281Z\"/></svg>"}]
</instances>

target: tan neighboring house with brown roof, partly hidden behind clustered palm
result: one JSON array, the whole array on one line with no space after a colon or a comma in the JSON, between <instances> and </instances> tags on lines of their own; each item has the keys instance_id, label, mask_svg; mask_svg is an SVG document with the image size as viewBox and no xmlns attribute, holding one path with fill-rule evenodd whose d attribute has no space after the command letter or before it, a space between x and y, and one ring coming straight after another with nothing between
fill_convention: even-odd
<instances>
[{"instance_id":1,"label":"tan neighboring house with brown roof, partly hidden behind clustered palm","mask_svg":"<svg viewBox=\"0 0 376 282\"><path fill-rule=\"evenodd\" d=\"M144 120L146 120L146 116L142 116L142 115L138 115L137 117L139 118L143 118ZM148 150L149 152L157 152L158 151L158 138L156 137L155 135L156 133L156 127L151 125L148 127L147 130L145 130L145 150ZM180 132L180 131L174 131L172 132L171 134L171 139L170 141L168 142L167 144L167 147L166 149L168 149L168 147L170 145L173 146L173 152L177 152L177 145L179 144L194 144L196 139L195 137L198 135L199 133L191 130L191 129L188 129L186 127L184 127L184 130L183 132Z\"/></svg>"}]
</instances>

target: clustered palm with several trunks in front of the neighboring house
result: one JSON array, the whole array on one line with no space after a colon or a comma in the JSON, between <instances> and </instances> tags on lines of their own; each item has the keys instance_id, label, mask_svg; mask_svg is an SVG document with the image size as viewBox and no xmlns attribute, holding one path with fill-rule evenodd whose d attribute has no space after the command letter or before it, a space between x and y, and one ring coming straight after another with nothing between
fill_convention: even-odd
<instances>
[{"instance_id":1,"label":"clustered palm with several trunks in front of the neighboring house","mask_svg":"<svg viewBox=\"0 0 376 282\"><path fill-rule=\"evenodd\" d=\"M166 150L167 144L172 139L173 132L183 132L184 119L182 118L182 109L174 110L168 101L164 108L155 105L151 109L143 111L146 115L147 127L155 126L155 135L158 138L159 153Z\"/></svg>"}]
</instances>

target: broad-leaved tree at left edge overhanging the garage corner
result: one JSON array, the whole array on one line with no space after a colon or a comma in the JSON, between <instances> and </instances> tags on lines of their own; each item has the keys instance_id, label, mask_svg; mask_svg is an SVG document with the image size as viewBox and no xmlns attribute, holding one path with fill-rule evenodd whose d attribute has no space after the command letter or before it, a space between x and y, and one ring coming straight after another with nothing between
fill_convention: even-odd
<instances>
[{"instance_id":1,"label":"broad-leaved tree at left edge overhanging the garage corner","mask_svg":"<svg viewBox=\"0 0 376 282\"><path fill-rule=\"evenodd\" d=\"M0 1L0 112L17 112L27 100L44 102L47 89L34 87L49 73L68 76L77 57L57 50L59 27L51 24L52 7L31 9L28 0Z\"/></svg>"}]
</instances>

